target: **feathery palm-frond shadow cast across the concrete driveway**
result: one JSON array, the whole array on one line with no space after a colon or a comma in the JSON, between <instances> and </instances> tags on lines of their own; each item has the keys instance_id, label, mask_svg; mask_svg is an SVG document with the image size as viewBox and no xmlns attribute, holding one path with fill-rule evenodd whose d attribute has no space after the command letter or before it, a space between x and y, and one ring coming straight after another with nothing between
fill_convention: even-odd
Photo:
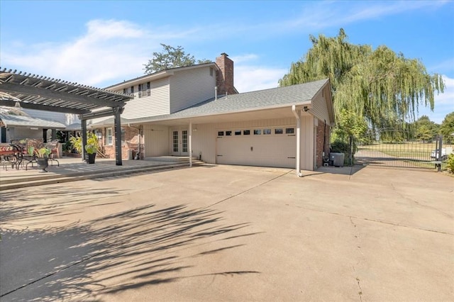
<instances>
[{"instance_id":1,"label":"feathery palm-frond shadow cast across the concrete driveway","mask_svg":"<svg viewBox=\"0 0 454 302\"><path fill-rule=\"evenodd\" d=\"M80 197L74 202L83 203ZM27 211L18 208L2 216L23 219L45 216L46 211L55 216L59 208L33 214ZM241 233L248 223L224 225L221 214L184 205L162 209L149 205L64 228L2 229L0 297L55 301L85 296L87 300L100 293L182 278L258 274L235 269L211 272L210 267L199 265L199 257L240 247L240 240L231 240L256 234Z\"/></svg>"}]
</instances>

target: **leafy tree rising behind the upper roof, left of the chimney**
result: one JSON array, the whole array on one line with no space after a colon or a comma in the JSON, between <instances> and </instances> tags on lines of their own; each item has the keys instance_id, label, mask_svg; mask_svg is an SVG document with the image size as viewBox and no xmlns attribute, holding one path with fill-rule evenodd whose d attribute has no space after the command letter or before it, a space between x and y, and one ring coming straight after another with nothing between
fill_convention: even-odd
<instances>
[{"instance_id":1,"label":"leafy tree rising behind the upper roof, left of the chimney","mask_svg":"<svg viewBox=\"0 0 454 302\"><path fill-rule=\"evenodd\" d=\"M183 47L172 47L161 43L164 48L162 52L153 52L153 58L148 60L143 70L145 74L152 74L153 72L160 72L164 69L184 67L196 64L211 62L210 60L197 60L193 55L186 54Z\"/></svg>"}]
</instances>

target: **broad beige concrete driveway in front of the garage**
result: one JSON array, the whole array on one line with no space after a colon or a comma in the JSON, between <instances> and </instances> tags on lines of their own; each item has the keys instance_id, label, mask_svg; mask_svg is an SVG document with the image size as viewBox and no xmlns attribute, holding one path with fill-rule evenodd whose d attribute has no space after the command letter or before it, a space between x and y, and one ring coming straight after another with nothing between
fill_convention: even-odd
<instances>
[{"instance_id":1,"label":"broad beige concrete driveway in front of the garage","mask_svg":"<svg viewBox=\"0 0 454 302\"><path fill-rule=\"evenodd\" d=\"M1 301L452 301L454 178L201 166L1 192Z\"/></svg>"}]
</instances>

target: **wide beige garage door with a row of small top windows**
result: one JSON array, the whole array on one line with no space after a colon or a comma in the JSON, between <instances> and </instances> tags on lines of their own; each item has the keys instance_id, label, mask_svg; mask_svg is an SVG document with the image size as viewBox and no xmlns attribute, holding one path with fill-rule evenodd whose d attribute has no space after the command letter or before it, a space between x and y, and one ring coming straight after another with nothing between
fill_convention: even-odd
<instances>
[{"instance_id":1,"label":"wide beige garage door with a row of small top windows","mask_svg":"<svg viewBox=\"0 0 454 302\"><path fill-rule=\"evenodd\" d=\"M292 126L220 129L216 139L218 164L296 167L297 138Z\"/></svg>"}]
</instances>

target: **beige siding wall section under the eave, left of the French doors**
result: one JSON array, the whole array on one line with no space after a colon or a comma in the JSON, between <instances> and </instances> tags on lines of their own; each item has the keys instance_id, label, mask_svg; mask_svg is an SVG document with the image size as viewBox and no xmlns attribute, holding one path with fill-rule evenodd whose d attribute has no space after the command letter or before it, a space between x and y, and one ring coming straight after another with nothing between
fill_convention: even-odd
<instances>
[{"instance_id":1,"label":"beige siding wall section under the eave, left of the French doors","mask_svg":"<svg viewBox=\"0 0 454 302\"><path fill-rule=\"evenodd\" d=\"M158 125L145 125L145 157L167 156L169 153L169 128Z\"/></svg>"}]
</instances>

